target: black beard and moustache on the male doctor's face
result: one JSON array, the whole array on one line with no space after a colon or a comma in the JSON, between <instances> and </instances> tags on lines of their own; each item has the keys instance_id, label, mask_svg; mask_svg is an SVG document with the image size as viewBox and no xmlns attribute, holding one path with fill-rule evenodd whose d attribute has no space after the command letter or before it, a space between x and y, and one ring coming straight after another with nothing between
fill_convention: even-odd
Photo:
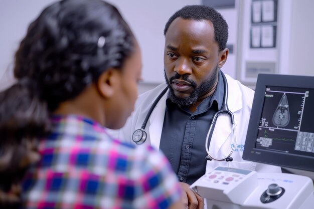
<instances>
[{"instance_id":1,"label":"black beard and moustache on the male doctor's face","mask_svg":"<svg viewBox=\"0 0 314 209\"><path fill-rule=\"evenodd\" d=\"M170 93L169 93L170 100L173 103L178 104L180 106L190 106L190 105L192 105L194 102L196 102L198 100L199 97L201 97L202 95L206 94L209 91L209 89L211 89L215 85L215 82L218 79L217 78L218 77L218 72L217 72L218 70L219 70L219 67L217 65L216 66L216 70L213 73L213 75L210 77L210 79L207 80L207 81L204 81L203 83L200 84L199 87L197 87L196 86L197 85L196 82L193 81L193 80L188 79L189 75L187 75L187 74L180 75L180 74L177 73L176 75L174 75L173 77L168 79L167 76L166 76L166 71L164 69L164 76L165 76L165 79L166 79L166 83L168 85L168 88L170 89ZM172 82L173 80L179 79L181 77L182 77L182 80L190 82L191 85L194 87L194 90L192 91L190 96L184 97L184 98L177 97L175 95L175 91L173 90L173 88L171 86L171 84L173 83Z\"/></svg>"}]
</instances>

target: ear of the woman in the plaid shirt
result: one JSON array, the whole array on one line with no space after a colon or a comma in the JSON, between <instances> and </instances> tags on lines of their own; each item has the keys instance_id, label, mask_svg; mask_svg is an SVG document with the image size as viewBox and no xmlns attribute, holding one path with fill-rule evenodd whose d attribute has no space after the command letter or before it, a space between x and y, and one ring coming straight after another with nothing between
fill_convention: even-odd
<instances>
[{"instance_id":1,"label":"ear of the woman in the plaid shirt","mask_svg":"<svg viewBox=\"0 0 314 209\"><path fill-rule=\"evenodd\" d=\"M114 95L115 88L119 83L120 74L114 68L107 69L98 78L96 85L98 92L104 98L110 98Z\"/></svg>"}]
</instances>

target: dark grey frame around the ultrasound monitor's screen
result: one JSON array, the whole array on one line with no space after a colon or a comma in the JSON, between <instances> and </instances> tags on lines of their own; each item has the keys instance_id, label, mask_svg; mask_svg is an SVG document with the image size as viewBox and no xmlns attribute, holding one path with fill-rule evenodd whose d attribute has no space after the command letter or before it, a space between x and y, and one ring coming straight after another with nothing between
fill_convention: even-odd
<instances>
[{"instance_id":1,"label":"dark grey frame around the ultrasound monitor's screen","mask_svg":"<svg viewBox=\"0 0 314 209\"><path fill-rule=\"evenodd\" d=\"M285 154L286 156L283 160L283 154L280 152L255 148L259 121L262 115L262 108L264 105L265 91L267 86L307 88L314 90L314 77L276 74L258 75L242 156L243 159L281 167L314 171L314 157Z\"/></svg>"}]
</instances>

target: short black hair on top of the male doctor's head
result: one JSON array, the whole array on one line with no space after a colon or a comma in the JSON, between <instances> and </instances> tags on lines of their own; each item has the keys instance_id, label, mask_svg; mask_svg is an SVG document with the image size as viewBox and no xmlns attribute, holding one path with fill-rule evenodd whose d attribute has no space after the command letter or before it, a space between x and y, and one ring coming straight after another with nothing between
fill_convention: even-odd
<instances>
[{"instance_id":1,"label":"short black hair on top of the male doctor's head","mask_svg":"<svg viewBox=\"0 0 314 209\"><path fill-rule=\"evenodd\" d=\"M221 51L226 48L226 43L228 41L228 24L223 16L215 9L204 5L188 5L183 7L169 18L164 29L165 36L169 26L177 18L196 21L210 21L214 26L215 40L219 46L219 50Z\"/></svg>"}]
</instances>

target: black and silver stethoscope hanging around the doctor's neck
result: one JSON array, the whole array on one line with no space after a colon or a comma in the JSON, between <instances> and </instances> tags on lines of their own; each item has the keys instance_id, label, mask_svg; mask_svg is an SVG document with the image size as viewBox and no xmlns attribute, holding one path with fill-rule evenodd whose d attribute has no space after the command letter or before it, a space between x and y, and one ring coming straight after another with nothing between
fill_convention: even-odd
<instances>
[{"instance_id":1,"label":"black and silver stethoscope hanging around the doctor's neck","mask_svg":"<svg viewBox=\"0 0 314 209\"><path fill-rule=\"evenodd\" d=\"M221 72L221 71L220 71ZM225 89L225 92L224 92L224 99L223 99L223 103L222 103L222 106L221 108L213 115L213 119L212 119L212 122L210 124L210 127L209 127L209 130L208 130L208 133L207 133L207 136L206 136L206 142L205 142L205 148L206 148L206 152L207 152L207 156L206 156L206 159L207 160L216 160L216 161L224 161L226 160L227 162L228 161L232 161L233 158L231 157L231 154L233 153L234 151L234 147L235 147L235 131L234 131L234 116L233 116L233 113L229 110L228 108L228 105L227 105L227 98L228 98L228 84L227 84L227 79L225 77L225 75L223 74L223 72L221 72L221 75L222 75L222 78L223 78L223 83L224 83L224 89ZM151 115L151 112L153 111L153 109L155 108L155 106L157 105L157 103L159 102L159 100L165 95L165 93L167 92L168 90L168 87L166 87L161 93L160 95L158 95L158 97L155 99L155 101L153 102L153 104L151 105L145 119L144 119L144 122L141 126L140 129L137 129L134 131L133 135L132 135L132 140L136 143L136 144L142 144L146 141L146 138L147 138L147 133L145 132L145 127L146 127L146 124L147 124L147 121ZM224 157L224 158L215 158L213 157L210 153L209 153L209 146L208 146L208 139L212 137L213 135L213 131L212 129L215 127L215 124L216 124L216 121L217 121L217 118L219 115L221 114L227 114L229 115L230 117L230 122L231 122L231 125L232 125L232 132L233 132L233 146L232 146L232 149L230 151L230 153Z\"/></svg>"}]
</instances>

